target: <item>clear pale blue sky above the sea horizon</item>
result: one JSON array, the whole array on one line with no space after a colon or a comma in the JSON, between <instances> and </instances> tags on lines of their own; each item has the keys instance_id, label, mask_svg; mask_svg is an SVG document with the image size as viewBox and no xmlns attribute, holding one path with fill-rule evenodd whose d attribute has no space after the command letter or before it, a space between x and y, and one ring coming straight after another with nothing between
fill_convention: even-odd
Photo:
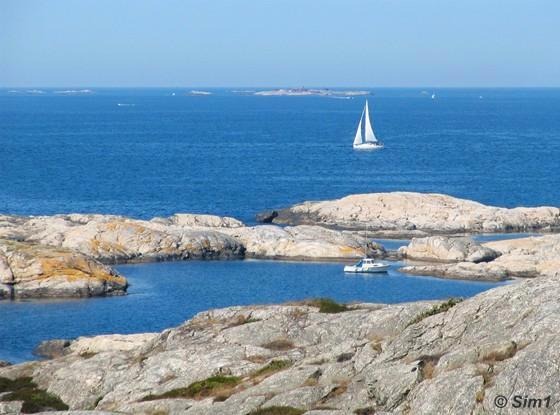
<instances>
[{"instance_id":1,"label":"clear pale blue sky above the sea horizon","mask_svg":"<svg viewBox=\"0 0 560 415\"><path fill-rule=\"evenodd\" d=\"M0 0L0 86L560 86L559 0Z\"/></svg>"}]
</instances>

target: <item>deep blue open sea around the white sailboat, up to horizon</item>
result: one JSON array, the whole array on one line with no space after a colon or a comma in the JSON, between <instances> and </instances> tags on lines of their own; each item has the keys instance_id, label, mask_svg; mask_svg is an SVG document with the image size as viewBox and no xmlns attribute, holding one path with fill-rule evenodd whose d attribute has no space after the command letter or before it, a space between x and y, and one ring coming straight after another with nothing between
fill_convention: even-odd
<instances>
[{"instance_id":1,"label":"deep blue open sea around the white sailboat, up to horizon","mask_svg":"<svg viewBox=\"0 0 560 415\"><path fill-rule=\"evenodd\" d=\"M363 97L187 91L0 91L0 212L251 222L266 208L393 190L560 205L560 89L443 89L435 100L372 89L386 147L367 153L351 147Z\"/></svg>"}]
</instances>

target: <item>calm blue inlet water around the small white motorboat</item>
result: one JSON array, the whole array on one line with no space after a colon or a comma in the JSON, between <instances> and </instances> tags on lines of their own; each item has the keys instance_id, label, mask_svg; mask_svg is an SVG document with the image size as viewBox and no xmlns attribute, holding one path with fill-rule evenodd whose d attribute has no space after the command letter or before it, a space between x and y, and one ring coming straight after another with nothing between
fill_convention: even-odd
<instances>
[{"instance_id":1,"label":"calm blue inlet water around the small white motorboat","mask_svg":"<svg viewBox=\"0 0 560 415\"><path fill-rule=\"evenodd\" d=\"M395 268L398 268L395 264ZM32 359L44 339L160 331L209 308L313 297L395 303L467 297L494 283L383 275L345 275L335 263L192 261L123 265L125 297L0 302L0 359Z\"/></svg>"}]
</instances>

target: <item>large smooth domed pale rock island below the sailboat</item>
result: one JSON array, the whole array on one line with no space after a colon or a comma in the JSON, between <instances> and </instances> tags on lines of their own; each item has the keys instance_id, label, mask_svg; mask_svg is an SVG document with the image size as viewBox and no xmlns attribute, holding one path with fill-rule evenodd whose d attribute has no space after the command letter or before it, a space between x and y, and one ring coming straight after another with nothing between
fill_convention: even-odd
<instances>
[{"instance_id":1,"label":"large smooth domed pale rock island below the sailboat","mask_svg":"<svg viewBox=\"0 0 560 415\"><path fill-rule=\"evenodd\" d=\"M376 236L526 232L560 229L556 207L506 209L442 194L408 192L351 195L282 209L273 223L359 229Z\"/></svg>"}]
</instances>

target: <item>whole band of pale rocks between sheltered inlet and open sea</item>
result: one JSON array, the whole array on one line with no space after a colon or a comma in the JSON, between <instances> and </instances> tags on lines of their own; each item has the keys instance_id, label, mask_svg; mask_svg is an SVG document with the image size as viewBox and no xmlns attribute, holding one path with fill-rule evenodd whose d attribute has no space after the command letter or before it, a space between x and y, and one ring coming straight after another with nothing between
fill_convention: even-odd
<instances>
[{"instance_id":1,"label":"whole band of pale rocks between sheltered inlet and open sea","mask_svg":"<svg viewBox=\"0 0 560 415\"><path fill-rule=\"evenodd\" d=\"M373 257L424 262L407 265L404 272L503 280L553 274L560 261L556 235L483 246L450 236L554 231L560 227L560 210L553 207L505 209L445 195L395 192L305 202L265 212L259 219L272 224L247 226L234 218L197 214L151 220L99 214L0 215L0 299L124 294L126 279L106 265L126 262L339 261L363 256L366 247ZM413 239L406 249L388 252L366 238L366 228L367 236L447 236L428 243ZM529 246L518 246L524 243ZM537 266L539 261L545 265Z\"/></svg>"}]
</instances>

